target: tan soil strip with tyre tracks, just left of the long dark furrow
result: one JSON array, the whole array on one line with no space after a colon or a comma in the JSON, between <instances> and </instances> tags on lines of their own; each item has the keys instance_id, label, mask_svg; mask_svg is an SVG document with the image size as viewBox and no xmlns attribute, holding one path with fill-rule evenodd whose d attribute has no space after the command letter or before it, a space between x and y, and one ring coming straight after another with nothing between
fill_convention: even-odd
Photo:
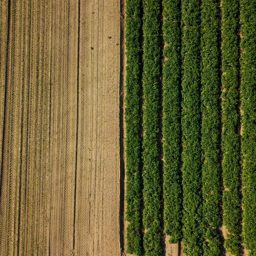
<instances>
[{"instance_id":1,"label":"tan soil strip with tyre tracks, just left of the long dark furrow","mask_svg":"<svg viewBox=\"0 0 256 256\"><path fill-rule=\"evenodd\" d=\"M58 12L53 14L53 38L54 44L51 70L55 70L52 78L54 89L52 99L56 99L57 108L52 108L52 131L50 138L56 141L50 151L53 158L52 173L52 208L50 253L70 254L73 249L73 225L74 225L74 182L75 182L75 158L76 158L76 77L77 77L77 3L61 1L55 3ZM71 15L71 16L70 16ZM57 19L57 17L60 17ZM70 17L75 17L71 19ZM67 22L66 22L67 20ZM60 23L58 24L58 21ZM58 32L60 26L60 33ZM67 44L66 44L67 42ZM63 55L62 52L65 52ZM61 74L64 74L61 75ZM66 84L65 87L61 84ZM58 88L58 89L57 89ZM62 151L63 150L63 151ZM61 170L64 170L61 172ZM56 185L54 185L56 184ZM55 219L61 221L56 225ZM53 241L58 241L54 243ZM54 245L54 247L53 247Z\"/></svg>"}]
</instances>

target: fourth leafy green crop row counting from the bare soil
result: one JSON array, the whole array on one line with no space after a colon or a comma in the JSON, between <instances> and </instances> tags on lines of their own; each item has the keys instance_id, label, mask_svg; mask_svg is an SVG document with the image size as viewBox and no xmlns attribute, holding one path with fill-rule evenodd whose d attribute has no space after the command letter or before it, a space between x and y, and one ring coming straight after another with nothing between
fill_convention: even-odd
<instances>
[{"instance_id":1,"label":"fourth leafy green crop row counting from the bare soil","mask_svg":"<svg viewBox=\"0 0 256 256\"><path fill-rule=\"evenodd\" d=\"M181 1L183 245L202 255L200 145L200 1Z\"/></svg>"}]
</instances>

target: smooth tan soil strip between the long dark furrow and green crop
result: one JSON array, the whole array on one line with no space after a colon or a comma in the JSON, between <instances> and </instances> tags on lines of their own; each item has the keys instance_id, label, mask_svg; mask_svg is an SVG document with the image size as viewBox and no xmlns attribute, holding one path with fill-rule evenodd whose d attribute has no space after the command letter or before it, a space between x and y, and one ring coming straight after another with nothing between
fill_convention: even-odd
<instances>
[{"instance_id":1,"label":"smooth tan soil strip between the long dark furrow and green crop","mask_svg":"<svg viewBox=\"0 0 256 256\"><path fill-rule=\"evenodd\" d=\"M120 70L119 7L119 3L113 6L108 0L81 1L80 7L75 230L78 255L120 254L119 73L113 73ZM111 61L107 64L108 59ZM109 227L115 227L111 234Z\"/></svg>"}]
</instances>

